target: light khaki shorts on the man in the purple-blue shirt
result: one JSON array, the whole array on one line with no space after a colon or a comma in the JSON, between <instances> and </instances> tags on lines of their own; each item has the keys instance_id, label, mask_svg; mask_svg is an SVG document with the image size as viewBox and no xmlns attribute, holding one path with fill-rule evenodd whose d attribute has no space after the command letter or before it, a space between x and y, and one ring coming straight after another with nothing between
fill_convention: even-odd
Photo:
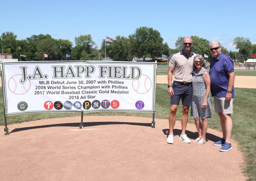
<instances>
[{"instance_id":1,"label":"light khaki shorts on the man in the purple-blue shirt","mask_svg":"<svg viewBox=\"0 0 256 181\"><path fill-rule=\"evenodd\" d=\"M229 102L225 100L226 98L219 98L214 96L214 109L215 113L222 113L222 114L233 114L233 99Z\"/></svg>"}]
</instances>

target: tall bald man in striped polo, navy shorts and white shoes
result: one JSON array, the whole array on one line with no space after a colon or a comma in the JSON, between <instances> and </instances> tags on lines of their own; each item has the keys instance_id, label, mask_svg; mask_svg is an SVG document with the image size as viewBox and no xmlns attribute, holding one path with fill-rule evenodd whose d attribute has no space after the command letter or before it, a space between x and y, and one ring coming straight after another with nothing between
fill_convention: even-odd
<instances>
[{"instance_id":1,"label":"tall bald man in striped polo, navy shorts and white shoes","mask_svg":"<svg viewBox=\"0 0 256 181\"><path fill-rule=\"evenodd\" d=\"M185 132L188 123L188 109L189 106L192 106L192 65L196 54L191 51L193 42L190 37L185 37L182 44L184 49L172 56L168 68L168 93L169 96L171 96L171 112L169 115L170 132L167 138L167 143L170 144L173 144L173 128L175 125L175 115L180 102L180 98L182 100L180 140L186 143L191 143ZM172 83L173 71L175 73L174 82Z\"/></svg>"}]
</instances>

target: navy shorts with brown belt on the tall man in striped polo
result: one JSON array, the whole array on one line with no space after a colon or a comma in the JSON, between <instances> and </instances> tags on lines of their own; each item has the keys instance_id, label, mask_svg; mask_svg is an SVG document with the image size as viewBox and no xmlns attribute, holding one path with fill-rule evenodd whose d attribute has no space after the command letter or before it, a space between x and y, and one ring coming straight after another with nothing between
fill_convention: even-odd
<instances>
[{"instance_id":1,"label":"navy shorts with brown belt on the tall man in striped polo","mask_svg":"<svg viewBox=\"0 0 256 181\"><path fill-rule=\"evenodd\" d=\"M180 98L183 106L192 106L192 85L183 84L174 81L172 83L172 89L174 92L173 97L171 98L171 105L179 105Z\"/></svg>"}]
</instances>

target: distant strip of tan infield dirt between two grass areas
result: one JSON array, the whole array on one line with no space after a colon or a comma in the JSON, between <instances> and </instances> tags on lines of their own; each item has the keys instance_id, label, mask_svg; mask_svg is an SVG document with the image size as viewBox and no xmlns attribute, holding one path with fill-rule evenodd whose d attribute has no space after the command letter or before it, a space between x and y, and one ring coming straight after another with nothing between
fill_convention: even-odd
<instances>
[{"instance_id":1,"label":"distant strip of tan infield dirt between two grass areas","mask_svg":"<svg viewBox=\"0 0 256 181\"><path fill-rule=\"evenodd\" d=\"M173 80L173 78L172 78ZM256 76L236 76L235 87L256 89ZM156 83L168 83L167 75L156 75Z\"/></svg>"}]
</instances>

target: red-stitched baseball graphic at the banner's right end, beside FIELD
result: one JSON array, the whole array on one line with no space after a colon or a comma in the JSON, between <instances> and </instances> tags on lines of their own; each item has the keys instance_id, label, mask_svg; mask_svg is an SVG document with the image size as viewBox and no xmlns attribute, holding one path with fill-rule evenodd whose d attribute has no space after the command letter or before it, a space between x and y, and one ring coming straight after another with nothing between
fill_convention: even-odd
<instances>
[{"instance_id":1,"label":"red-stitched baseball graphic at the banner's right end, beside FIELD","mask_svg":"<svg viewBox=\"0 0 256 181\"><path fill-rule=\"evenodd\" d=\"M147 93L152 86L152 82L147 75L142 74L138 80L132 81L132 88L139 94Z\"/></svg>"}]
</instances>

